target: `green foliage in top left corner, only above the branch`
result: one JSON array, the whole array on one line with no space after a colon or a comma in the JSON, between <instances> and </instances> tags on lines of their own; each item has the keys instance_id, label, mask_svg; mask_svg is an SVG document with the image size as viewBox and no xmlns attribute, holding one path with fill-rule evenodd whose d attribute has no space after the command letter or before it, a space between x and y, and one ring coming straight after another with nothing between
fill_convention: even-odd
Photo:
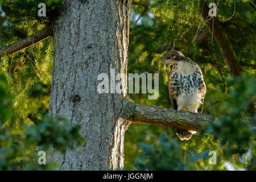
<instances>
[{"instance_id":1,"label":"green foliage in top left corner, only above the branch","mask_svg":"<svg viewBox=\"0 0 256 182\"><path fill-rule=\"evenodd\" d=\"M39 17L39 3L46 3L46 17ZM20 38L32 35L51 23L62 0L6 0L0 2L0 48Z\"/></svg>"}]
</instances>

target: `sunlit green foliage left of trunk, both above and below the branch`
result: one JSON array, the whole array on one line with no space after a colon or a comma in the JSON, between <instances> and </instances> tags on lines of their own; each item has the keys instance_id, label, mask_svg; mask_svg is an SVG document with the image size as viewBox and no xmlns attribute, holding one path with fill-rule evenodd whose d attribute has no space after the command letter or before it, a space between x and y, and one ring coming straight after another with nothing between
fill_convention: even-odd
<instances>
[{"instance_id":1,"label":"sunlit green foliage left of trunk, both above and below the branch","mask_svg":"<svg viewBox=\"0 0 256 182\"><path fill-rule=\"evenodd\" d=\"M47 16L39 17L39 3L46 3ZM63 1L4 1L0 3L0 48L32 35L53 22ZM6 77L14 97L10 102L14 117L6 125L19 128L42 119L48 109L53 61L53 38L46 39L13 55L1 57L0 73Z\"/></svg>"}]
</instances>

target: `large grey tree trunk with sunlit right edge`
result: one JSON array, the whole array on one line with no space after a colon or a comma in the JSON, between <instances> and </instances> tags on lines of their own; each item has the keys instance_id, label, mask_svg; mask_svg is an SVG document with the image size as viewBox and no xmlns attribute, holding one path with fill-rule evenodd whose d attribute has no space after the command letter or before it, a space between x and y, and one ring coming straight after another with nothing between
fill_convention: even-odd
<instances>
[{"instance_id":1,"label":"large grey tree trunk with sunlit right edge","mask_svg":"<svg viewBox=\"0 0 256 182\"><path fill-rule=\"evenodd\" d=\"M98 93L97 77L106 73L110 81L110 69L126 74L130 7L130 0L68 0L56 20L49 113L81 125L86 140L75 151L53 155L60 170L123 167L130 124L121 117L125 93ZM126 77L121 81L126 89Z\"/></svg>"}]
</instances>

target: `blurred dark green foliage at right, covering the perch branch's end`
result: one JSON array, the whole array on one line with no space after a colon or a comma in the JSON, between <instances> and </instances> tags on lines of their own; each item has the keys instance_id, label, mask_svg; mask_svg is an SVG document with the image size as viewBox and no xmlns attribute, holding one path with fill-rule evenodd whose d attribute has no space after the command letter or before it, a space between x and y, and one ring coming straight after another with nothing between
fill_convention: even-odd
<instances>
[{"instance_id":1,"label":"blurred dark green foliage at right, covering the perch branch's end","mask_svg":"<svg viewBox=\"0 0 256 182\"><path fill-rule=\"evenodd\" d=\"M215 112L215 115L220 115L218 120L203 132L214 133L214 138L219 139L220 146L226 146L223 157L227 160L230 156L238 160L247 152L255 154L253 126L256 124L256 115L255 109L250 107L255 102L255 82L255 77L243 75L228 81L228 84L232 85L228 96L223 93L213 96L221 101Z\"/></svg>"}]
</instances>

